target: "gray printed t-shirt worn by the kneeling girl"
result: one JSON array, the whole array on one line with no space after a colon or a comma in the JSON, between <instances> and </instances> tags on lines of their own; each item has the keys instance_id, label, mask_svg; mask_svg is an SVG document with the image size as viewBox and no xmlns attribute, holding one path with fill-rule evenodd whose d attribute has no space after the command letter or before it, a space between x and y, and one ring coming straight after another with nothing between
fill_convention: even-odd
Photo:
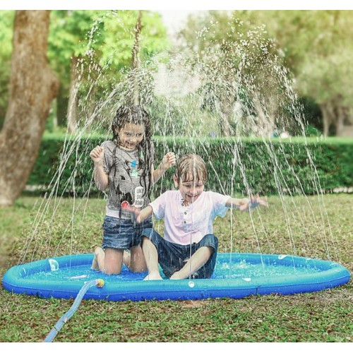
<instances>
[{"instance_id":1,"label":"gray printed t-shirt worn by the kneeling girl","mask_svg":"<svg viewBox=\"0 0 353 353\"><path fill-rule=\"evenodd\" d=\"M104 148L103 169L108 174L109 194L107 208L119 211L119 217L131 220L131 214L121 208L123 201L138 208L145 208L150 202L148 195L145 195L148 188L148 178L143 178L145 165L140 165L138 150L124 150L112 140L102 143ZM154 155L154 150L151 151ZM144 160L140 156L140 160ZM153 164L152 157L152 164Z\"/></svg>"}]
</instances>

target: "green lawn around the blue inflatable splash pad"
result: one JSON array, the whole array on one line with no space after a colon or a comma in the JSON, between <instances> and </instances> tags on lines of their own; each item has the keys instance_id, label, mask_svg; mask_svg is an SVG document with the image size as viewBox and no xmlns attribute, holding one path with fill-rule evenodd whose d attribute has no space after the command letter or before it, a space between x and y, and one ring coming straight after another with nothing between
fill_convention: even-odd
<instances>
[{"instance_id":1,"label":"green lawn around the blue inflatable splash pad","mask_svg":"<svg viewBox=\"0 0 353 353\"><path fill-rule=\"evenodd\" d=\"M271 196L268 201L269 208L252 216L229 211L217 218L220 252L295 253L338 261L352 273L352 195ZM95 249L104 205L102 199L42 203L23 196L13 208L0 208L0 276L19 259ZM161 222L156 227L162 232ZM352 342L351 282L292 296L86 300L55 342ZM72 303L11 294L1 287L0 342L41 342Z\"/></svg>"}]
</instances>

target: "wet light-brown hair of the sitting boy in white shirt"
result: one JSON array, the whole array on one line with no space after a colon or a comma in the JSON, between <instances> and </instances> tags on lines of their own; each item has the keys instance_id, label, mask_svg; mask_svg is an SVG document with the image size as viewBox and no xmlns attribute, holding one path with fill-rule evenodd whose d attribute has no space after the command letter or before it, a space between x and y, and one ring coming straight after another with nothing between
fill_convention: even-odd
<instances>
[{"instance_id":1,"label":"wet light-brown hair of the sitting boy in white shirt","mask_svg":"<svg viewBox=\"0 0 353 353\"><path fill-rule=\"evenodd\" d=\"M177 160L174 175L178 181L205 182L207 179L206 164L199 155L189 153Z\"/></svg>"}]
</instances>

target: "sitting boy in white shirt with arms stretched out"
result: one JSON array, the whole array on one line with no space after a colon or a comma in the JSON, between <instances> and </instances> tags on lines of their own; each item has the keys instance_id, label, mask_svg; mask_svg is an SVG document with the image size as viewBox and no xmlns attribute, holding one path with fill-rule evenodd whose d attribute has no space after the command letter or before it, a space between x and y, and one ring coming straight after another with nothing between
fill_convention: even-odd
<instances>
[{"instance_id":1,"label":"sitting boy in white shirt with arms stretched out","mask_svg":"<svg viewBox=\"0 0 353 353\"><path fill-rule=\"evenodd\" d=\"M142 249L148 267L145 280L162 280L158 264L171 280L209 278L215 269L217 237L213 220L224 217L228 208L247 210L267 203L256 195L232 198L204 191L207 170L203 159L194 154L181 157L174 173L177 191L166 191L139 210L126 205L137 223L150 217L164 217L164 237L154 229L142 233Z\"/></svg>"}]
</instances>

